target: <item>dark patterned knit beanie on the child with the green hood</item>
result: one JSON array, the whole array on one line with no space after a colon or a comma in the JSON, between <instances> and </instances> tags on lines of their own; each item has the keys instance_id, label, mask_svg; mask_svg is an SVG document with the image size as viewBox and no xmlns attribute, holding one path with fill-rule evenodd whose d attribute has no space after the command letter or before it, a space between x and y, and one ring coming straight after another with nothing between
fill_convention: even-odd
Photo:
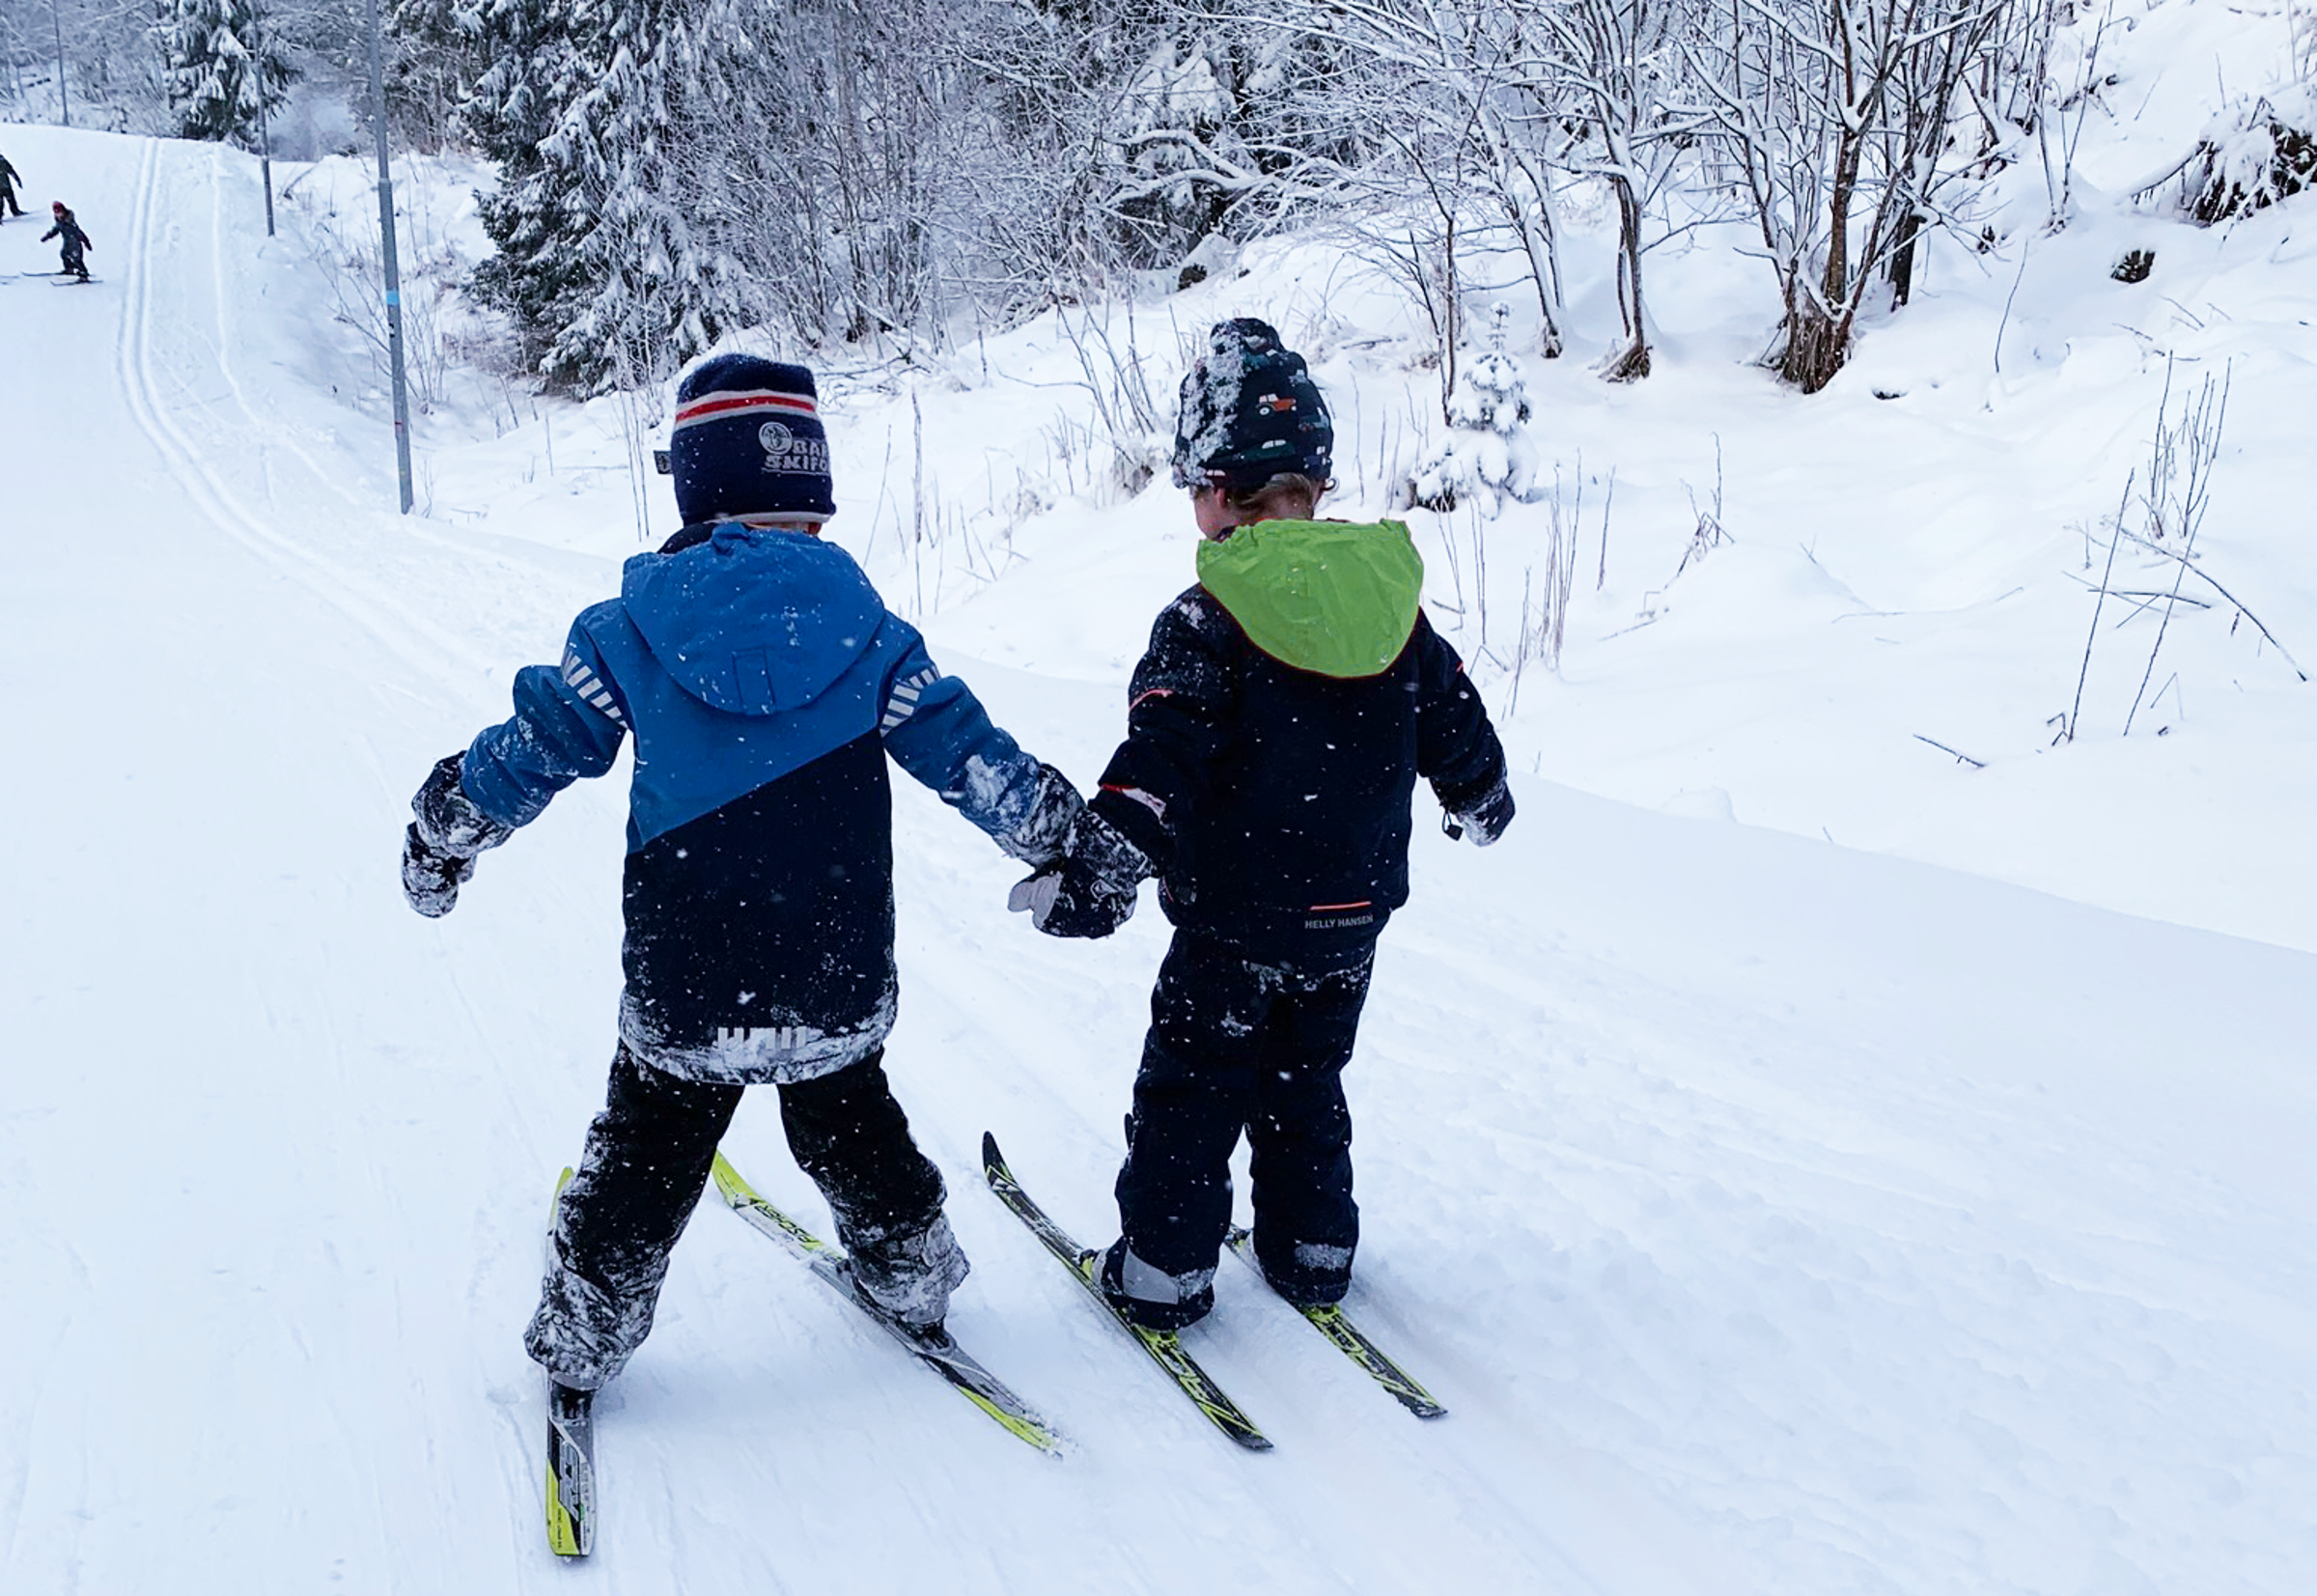
<instances>
[{"instance_id":1,"label":"dark patterned knit beanie on the child with the green hood","mask_svg":"<svg viewBox=\"0 0 2317 1596\"><path fill-rule=\"evenodd\" d=\"M1325 484L1335 461L1328 401L1270 322L1216 322L1182 380L1175 486L1258 489L1279 473Z\"/></svg>"}]
</instances>

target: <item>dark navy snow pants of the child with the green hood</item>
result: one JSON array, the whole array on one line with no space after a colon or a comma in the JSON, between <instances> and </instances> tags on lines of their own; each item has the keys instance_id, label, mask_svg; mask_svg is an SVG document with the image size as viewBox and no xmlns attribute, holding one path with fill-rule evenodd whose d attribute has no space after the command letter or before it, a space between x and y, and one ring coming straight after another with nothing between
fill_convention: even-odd
<instances>
[{"instance_id":1,"label":"dark navy snow pants of the child with the green hood","mask_svg":"<svg viewBox=\"0 0 2317 1596\"><path fill-rule=\"evenodd\" d=\"M1230 1228L1230 1154L1247 1130L1256 1255L1298 1302L1351 1286L1351 1063L1376 945L1256 964L1177 931L1152 991L1119 1170L1119 1228L1177 1290L1212 1290Z\"/></svg>"}]
</instances>

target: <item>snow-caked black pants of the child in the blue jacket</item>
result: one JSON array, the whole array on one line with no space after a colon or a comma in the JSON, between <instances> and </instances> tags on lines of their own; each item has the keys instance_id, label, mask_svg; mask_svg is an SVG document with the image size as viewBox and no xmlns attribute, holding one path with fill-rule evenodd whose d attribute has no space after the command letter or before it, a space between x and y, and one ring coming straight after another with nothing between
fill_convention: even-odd
<instances>
[{"instance_id":1,"label":"snow-caked black pants of the child in the blue jacket","mask_svg":"<svg viewBox=\"0 0 2317 1596\"><path fill-rule=\"evenodd\" d=\"M524 1350L563 1385L609 1383L651 1334L667 1253L700 1202L744 1086L656 1070L621 1045L602 1114L556 1209L554 1249ZM788 1147L846 1251L941 1223L941 1170L918 1151L883 1052L776 1086ZM962 1260L959 1260L962 1274Z\"/></svg>"}]
</instances>

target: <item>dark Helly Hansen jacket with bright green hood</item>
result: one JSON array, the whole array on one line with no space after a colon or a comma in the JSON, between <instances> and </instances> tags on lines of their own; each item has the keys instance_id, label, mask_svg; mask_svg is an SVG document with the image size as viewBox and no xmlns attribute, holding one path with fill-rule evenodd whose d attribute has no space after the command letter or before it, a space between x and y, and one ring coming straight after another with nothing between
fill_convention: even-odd
<instances>
[{"instance_id":1,"label":"dark Helly Hansen jacket with bright green hood","mask_svg":"<svg viewBox=\"0 0 2317 1596\"><path fill-rule=\"evenodd\" d=\"M1504 781L1397 521L1258 521L1198 549L1128 688L1094 808L1177 927L1281 957L1369 940L1409 899L1416 778L1460 811Z\"/></svg>"}]
</instances>

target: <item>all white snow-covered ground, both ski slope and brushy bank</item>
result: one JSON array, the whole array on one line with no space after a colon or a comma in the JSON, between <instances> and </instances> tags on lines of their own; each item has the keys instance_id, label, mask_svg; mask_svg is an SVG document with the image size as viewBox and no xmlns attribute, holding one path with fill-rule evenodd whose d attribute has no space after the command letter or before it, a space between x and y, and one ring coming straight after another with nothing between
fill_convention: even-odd
<instances>
[{"instance_id":1,"label":"all white snow-covered ground, both ski slope and brushy bank","mask_svg":"<svg viewBox=\"0 0 2317 1596\"><path fill-rule=\"evenodd\" d=\"M2317 665L2317 208L2127 204L2215 81L2273 76L2282 9L2129 21L2074 222L2013 171L1997 248L1942 246L1826 394L1745 364L1768 278L1715 236L1652 257L1647 382L1525 364L1578 537L1557 672L1518 642L1550 507L1413 517L1522 771L1501 848L1418 827L1351 1077L1353 1309L1450 1418L1226 1272L1191 1339L1279 1443L1242 1455L980 1191L989 1128L1108 1239L1165 927L1036 938L904 783L892 1068L975 1260L952 1327L1075 1450L711 1205L600 1404L582 1568L542 1545L517 1334L609 1059L621 785L438 924L394 857L426 764L672 530L651 410L445 371L396 517L310 248L364 169L280 171L266 241L250 160L9 127L104 283L16 276L44 222L0 227L0 1589L2317 1589L2317 688L2192 579L2132 737L2157 616L2113 598L2076 741L2048 725L2166 361L2176 410L2229 382L2199 563ZM399 181L470 246L473 174ZM1580 229L1580 334L1606 259ZM1404 313L1311 243L1242 264L1108 350L1168 410L1186 336L1267 315L1337 401L1339 503L1381 507L1437 412ZM1089 486L1070 327L915 391L832 373L832 535L1091 778L1191 533ZM1682 570L1717 479L1728 540ZM820 1216L769 1100L728 1147Z\"/></svg>"}]
</instances>

